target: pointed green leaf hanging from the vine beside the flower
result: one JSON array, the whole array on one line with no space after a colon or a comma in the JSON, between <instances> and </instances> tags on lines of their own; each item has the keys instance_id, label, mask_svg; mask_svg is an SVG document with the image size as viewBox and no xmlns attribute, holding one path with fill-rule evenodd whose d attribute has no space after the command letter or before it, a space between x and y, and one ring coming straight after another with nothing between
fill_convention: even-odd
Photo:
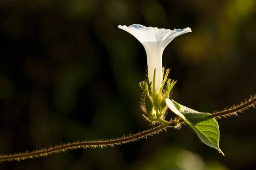
<instances>
[{"instance_id":1,"label":"pointed green leaf hanging from the vine beside the flower","mask_svg":"<svg viewBox=\"0 0 256 170\"><path fill-rule=\"evenodd\" d=\"M217 149L224 156L219 147L218 122L211 114L195 111L170 99L166 99L166 104L172 112L180 116L195 131L201 142Z\"/></svg>"}]
</instances>

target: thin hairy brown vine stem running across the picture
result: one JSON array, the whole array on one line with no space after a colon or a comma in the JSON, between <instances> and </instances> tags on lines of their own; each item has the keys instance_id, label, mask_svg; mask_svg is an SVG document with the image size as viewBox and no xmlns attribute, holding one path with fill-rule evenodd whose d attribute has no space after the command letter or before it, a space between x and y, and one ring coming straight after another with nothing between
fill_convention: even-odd
<instances>
[{"instance_id":1,"label":"thin hairy brown vine stem running across the picture","mask_svg":"<svg viewBox=\"0 0 256 170\"><path fill-rule=\"evenodd\" d=\"M222 116L231 116L236 115L237 112L243 112L244 110L253 107L255 108L256 103L256 95L251 96L248 101L245 101L244 103L241 102L240 105L234 105L233 107L229 109L224 109L223 111L212 113L212 117L220 118ZM178 120L179 123L183 122L181 119ZM0 155L0 162L3 161L21 161L25 159L33 159L36 157L42 157L47 156L52 153L59 153L59 152L65 152L66 150L70 149L77 149L77 148L96 148L96 147L107 147L107 146L114 146L114 145L120 145L125 144L128 142L137 141L139 139L146 138L147 136L153 136L154 134L157 134L161 132L162 130L166 130L167 127L174 127L176 121L169 122L169 126L167 125L160 125L148 130L144 130L139 133L135 133L133 135L123 136L121 138L117 139L108 139L108 140L99 140L99 141L84 141L84 142L73 142L73 143L67 143L67 144L59 144L55 145L55 147L49 147L49 148L43 148L41 150L34 150L32 152L26 151L23 153L14 153L14 154L7 154L7 155Z\"/></svg>"}]
</instances>

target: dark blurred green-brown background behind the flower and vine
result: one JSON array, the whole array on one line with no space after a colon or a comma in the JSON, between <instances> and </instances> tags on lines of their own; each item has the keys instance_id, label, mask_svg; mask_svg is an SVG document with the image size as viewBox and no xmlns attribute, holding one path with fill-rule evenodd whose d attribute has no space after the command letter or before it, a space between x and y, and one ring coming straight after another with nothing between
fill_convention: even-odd
<instances>
[{"instance_id":1,"label":"dark blurred green-brown background behind the flower and vine","mask_svg":"<svg viewBox=\"0 0 256 170\"><path fill-rule=\"evenodd\" d=\"M0 154L151 128L139 108L145 50L117 28L134 23L192 28L163 53L180 104L212 113L256 94L255 0L0 0ZM225 156L183 126L0 170L254 170L255 119L218 120Z\"/></svg>"}]
</instances>

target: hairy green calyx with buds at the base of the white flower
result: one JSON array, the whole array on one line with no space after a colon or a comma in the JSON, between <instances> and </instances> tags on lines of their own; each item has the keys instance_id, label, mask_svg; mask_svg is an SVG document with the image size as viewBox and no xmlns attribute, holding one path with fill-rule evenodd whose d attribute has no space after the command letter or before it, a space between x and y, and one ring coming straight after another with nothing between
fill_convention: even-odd
<instances>
[{"instance_id":1,"label":"hairy green calyx with buds at the base of the white flower","mask_svg":"<svg viewBox=\"0 0 256 170\"><path fill-rule=\"evenodd\" d=\"M155 91L155 71L154 71L154 80L149 82L146 79L143 82L140 82L140 88L143 91L143 97L141 102L141 108L145 115L143 115L149 122L155 123L160 122L165 125L168 124L164 120L164 115L166 113L167 105L165 99L169 99L169 94L174 87L176 81L168 79L169 69L163 68L162 71L162 84L159 91ZM153 87L152 87L153 86ZM152 89L153 88L153 89Z\"/></svg>"}]
</instances>

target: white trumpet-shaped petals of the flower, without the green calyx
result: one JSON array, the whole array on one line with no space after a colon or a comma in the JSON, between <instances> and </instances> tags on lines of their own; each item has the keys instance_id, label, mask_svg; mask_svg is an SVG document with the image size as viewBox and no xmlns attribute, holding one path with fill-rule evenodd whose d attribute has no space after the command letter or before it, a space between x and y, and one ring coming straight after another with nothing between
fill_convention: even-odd
<instances>
[{"instance_id":1,"label":"white trumpet-shaped petals of the flower, without the green calyx","mask_svg":"<svg viewBox=\"0 0 256 170\"><path fill-rule=\"evenodd\" d=\"M152 82L154 79L154 69L156 69L155 77L155 92L158 93L162 83L162 55L166 45L169 44L175 37L191 32L191 29L164 29L157 27L145 27L140 24L133 24L131 26L121 26L121 28L128 33L132 34L139 40L145 48L148 62L148 79ZM153 91L153 83L151 84Z\"/></svg>"}]
</instances>

